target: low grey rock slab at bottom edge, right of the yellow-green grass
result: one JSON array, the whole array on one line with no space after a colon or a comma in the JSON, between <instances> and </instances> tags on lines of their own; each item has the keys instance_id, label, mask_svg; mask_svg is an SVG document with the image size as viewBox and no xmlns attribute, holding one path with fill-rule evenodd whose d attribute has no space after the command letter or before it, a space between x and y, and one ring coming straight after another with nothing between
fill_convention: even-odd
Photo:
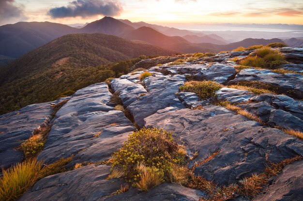
<instances>
[{"instance_id":1,"label":"low grey rock slab at bottom edge, right of the yellow-green grass","mask_svg":"<svg viewBox=\"0 0 303 201\"><path fill-rule=\"evenodd\" d=\"M19 201L97 201L120 189L123 180L106 180L110 166L86 166L39 180Z\"/></svg>"}]
</instances>

